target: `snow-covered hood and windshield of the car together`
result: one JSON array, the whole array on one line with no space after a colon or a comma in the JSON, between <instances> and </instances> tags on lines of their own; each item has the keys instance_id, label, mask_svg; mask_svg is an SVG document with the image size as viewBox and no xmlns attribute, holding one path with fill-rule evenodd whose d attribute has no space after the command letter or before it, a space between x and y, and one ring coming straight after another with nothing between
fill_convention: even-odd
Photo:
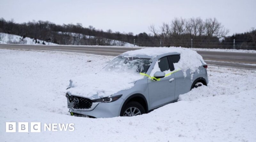
<instances>
[{"instance_id":1,"label":"snow-covered hood and windshield of the car together","mask_svg":"<svg viewBox=\"0 0 256 142\"><path fill-rule=\"evenodd\" d=\"M73 87L67 91L89 99L108 97L118 91L132 88L134 81L144 78L139 73L145 73L150 64L151 59L148 58L118 56L97 74L72 78Z\"/></svg>"}]
</instances>

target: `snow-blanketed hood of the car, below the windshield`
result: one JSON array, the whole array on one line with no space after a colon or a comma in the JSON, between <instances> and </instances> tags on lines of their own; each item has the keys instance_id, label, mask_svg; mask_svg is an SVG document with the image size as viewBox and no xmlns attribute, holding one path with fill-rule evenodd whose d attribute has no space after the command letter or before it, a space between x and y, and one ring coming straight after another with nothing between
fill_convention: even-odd
<instances>
[{"instance_id":1,"label":"snow-blanketed hood of the car, below the windshield","mask_svg":"<svg viewBox=\"0 0 256 142\"><path fill-rule=\"evenodd\" d=\"M65 92L89 99L111 96L121 90L130 89L136 80L143 78L139 73L100 72L77 76L70 80Z\"/></svg>"}]
</instances>

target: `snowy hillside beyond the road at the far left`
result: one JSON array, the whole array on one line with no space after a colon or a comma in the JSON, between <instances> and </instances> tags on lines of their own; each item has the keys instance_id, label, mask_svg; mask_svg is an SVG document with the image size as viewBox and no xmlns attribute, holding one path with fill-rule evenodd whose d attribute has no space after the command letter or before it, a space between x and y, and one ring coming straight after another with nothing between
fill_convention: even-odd
<instances>
[{"instance_id":1,"label":"snowy hillside beyond the road at the far left","mask_svg":"<svg viewBox=\"0 0 256 142\"><path fill-rule=\"evenodd\" d=\"M6 34L6 33L0 33L1 40L0 44L29 44L29 45L43 45L43 42L45 45L58 45L52 42L46 42L42 40L35 40L33 38L25 37L15 35L15 34ZM37 43L36 43L37 41ZM38 43L39 42L39 43Z\"/></svg>"}]
</instances>

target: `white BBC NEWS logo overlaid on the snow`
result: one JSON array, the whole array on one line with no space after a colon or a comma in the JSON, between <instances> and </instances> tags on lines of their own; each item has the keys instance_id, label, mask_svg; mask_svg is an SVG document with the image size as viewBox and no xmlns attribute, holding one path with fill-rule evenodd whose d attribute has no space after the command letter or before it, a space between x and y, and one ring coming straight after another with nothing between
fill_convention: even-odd
<instances>
[{"instance_id":1,"label":"white BBC NEWS logo overlaid on the snow","mask_svg":"<svg viewBox=\"0 0 256 142\"><path fill-rule=\"evenodd\" d=\"M6 122L5 131L6 132L41 132L41 122L30 122L30 127L28 122ZM18 127L16 127L18 126ZM44 123L44 131L74 131L74 123Z\"/></svg>"}]
</instances>

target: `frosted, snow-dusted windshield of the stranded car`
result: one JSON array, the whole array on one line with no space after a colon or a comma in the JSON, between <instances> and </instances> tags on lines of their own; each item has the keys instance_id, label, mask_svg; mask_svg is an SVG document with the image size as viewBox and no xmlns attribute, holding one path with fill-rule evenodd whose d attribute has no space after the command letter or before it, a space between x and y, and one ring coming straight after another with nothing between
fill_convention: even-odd
<instances>
[{"instance_id":1,"label":"frosted, snow-dusted windshield of the stranded car","mask_svg":"<svg viewBox=\"0 0 256 142\"><path fill-rule=\"evenodd\" d=\"M150 58L123 57L118 56L110 61L104 68L104 71L117 72L142 72L146 73L151 64Z\"/></svg>"}]
</instances>

